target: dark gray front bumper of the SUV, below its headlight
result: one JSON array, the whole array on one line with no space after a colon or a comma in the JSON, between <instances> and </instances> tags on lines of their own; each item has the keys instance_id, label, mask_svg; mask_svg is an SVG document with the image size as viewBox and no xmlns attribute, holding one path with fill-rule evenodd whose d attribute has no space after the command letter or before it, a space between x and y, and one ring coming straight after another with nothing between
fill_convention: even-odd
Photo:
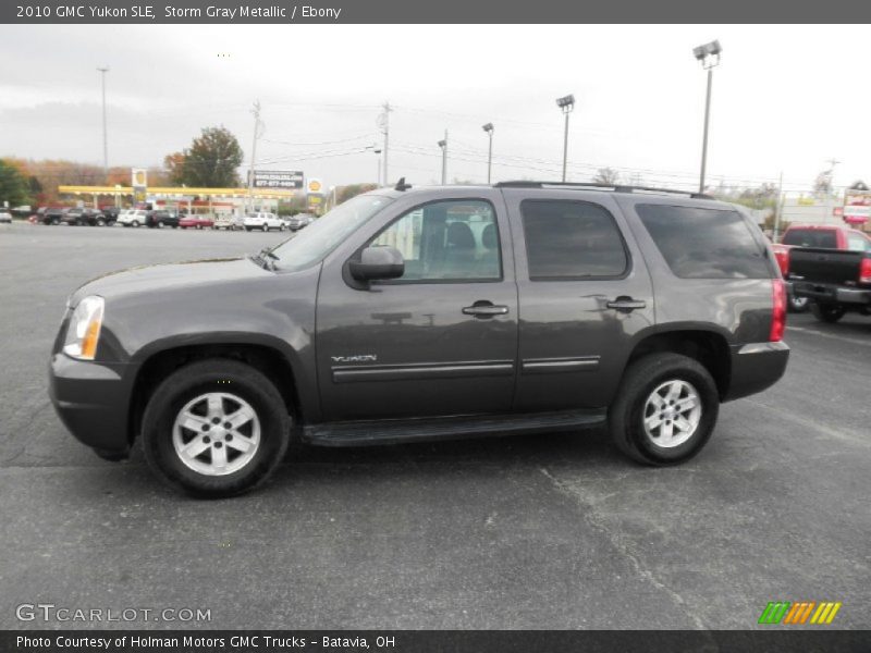
<instances>
[{"instance_id":1,"label":"dark gray front bumper of the SUV, below its headlight","mask_svg":"<svg viewBox=\"0 0 871 653\"><path fill-rule=\"evenodd\" d=\"M130 366L76 360L53 354L49 396L69 431L106 458L130 453Z\"/></svg>"}]
</instances>

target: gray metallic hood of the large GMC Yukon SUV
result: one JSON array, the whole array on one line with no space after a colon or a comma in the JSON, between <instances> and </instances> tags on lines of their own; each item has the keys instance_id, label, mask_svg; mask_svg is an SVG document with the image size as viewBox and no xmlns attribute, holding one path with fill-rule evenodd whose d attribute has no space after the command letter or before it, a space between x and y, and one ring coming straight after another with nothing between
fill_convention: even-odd
<instances>
[{"instance_id":1,"label":"gray metallic hood of the large GMC Yukon SUV","mask_svg":"<svg viewBox=\"0 0 871 653\"><path fill-rule=\"evenodd\" d=\"M209 259L183 263L143 266L120 272L110 272L79 286L69 304L75 306L88 295L110 299L136 293L162 292L170 288L223 284L244 279L272 276L247 258Z\"/></svg>"}]
</instances>

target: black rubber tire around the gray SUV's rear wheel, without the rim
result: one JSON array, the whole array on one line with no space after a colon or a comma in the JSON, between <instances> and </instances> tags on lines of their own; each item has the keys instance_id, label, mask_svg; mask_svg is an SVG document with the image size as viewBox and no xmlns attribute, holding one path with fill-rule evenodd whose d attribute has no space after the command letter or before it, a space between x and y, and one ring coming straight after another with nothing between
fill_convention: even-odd
<instances>
[{"instance_id":1,"label":"black rubber tire around the gray SUV's rear wheel, without the rim","mask_svg":"<svg viewBox=\"0 0 871 653\"><path fill-rule=\"evenodd\" d=\"M701 414L685 442L663 447L646 433L645 410L653 392L670 381L683 381L696 390ZM626 369L617 398L609 409L609 429L617 448L634 460L645 465L677 465L692 458L708 443L719 411L716 383L704 366L679 354L650 354Z\"/></svg>"}]
</instances>

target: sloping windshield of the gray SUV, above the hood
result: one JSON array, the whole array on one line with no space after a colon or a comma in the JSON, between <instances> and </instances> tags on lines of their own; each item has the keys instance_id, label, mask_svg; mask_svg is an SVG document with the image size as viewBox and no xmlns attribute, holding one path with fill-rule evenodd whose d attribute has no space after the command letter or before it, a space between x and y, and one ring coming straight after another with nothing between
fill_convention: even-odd
<instances>
[{"instance_id":1,"label":"sloping windshield of the gray SUV, above the hood","mask_svg":"<svg viewBox=\"0 0 871 653\"><path fill-rule=\"evenodd\" d=\"M272 250L274 263L281 270L303 270L335 249L393 199L381 195L359 195L339 205L312 222L299 235L285 241Z\"/></svg>"}]
</instances>

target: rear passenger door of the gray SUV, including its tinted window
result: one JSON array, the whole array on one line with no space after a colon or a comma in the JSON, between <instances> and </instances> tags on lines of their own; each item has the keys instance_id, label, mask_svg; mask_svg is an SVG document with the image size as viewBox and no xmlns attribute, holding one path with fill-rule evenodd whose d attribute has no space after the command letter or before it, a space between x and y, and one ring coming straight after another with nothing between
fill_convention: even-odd
<instances>
[{"instance_id":1,"label":"rear passenger door of the gray SUV, including its tinted window","mask_svg":"<svg viewBox=\"0 0 871 653\"><path fill-rule=\"evenodd\" d=\"M605 193L504 189L519 303L518 411L604 407L653 294Z\"/></svg>"}]
</instances>

